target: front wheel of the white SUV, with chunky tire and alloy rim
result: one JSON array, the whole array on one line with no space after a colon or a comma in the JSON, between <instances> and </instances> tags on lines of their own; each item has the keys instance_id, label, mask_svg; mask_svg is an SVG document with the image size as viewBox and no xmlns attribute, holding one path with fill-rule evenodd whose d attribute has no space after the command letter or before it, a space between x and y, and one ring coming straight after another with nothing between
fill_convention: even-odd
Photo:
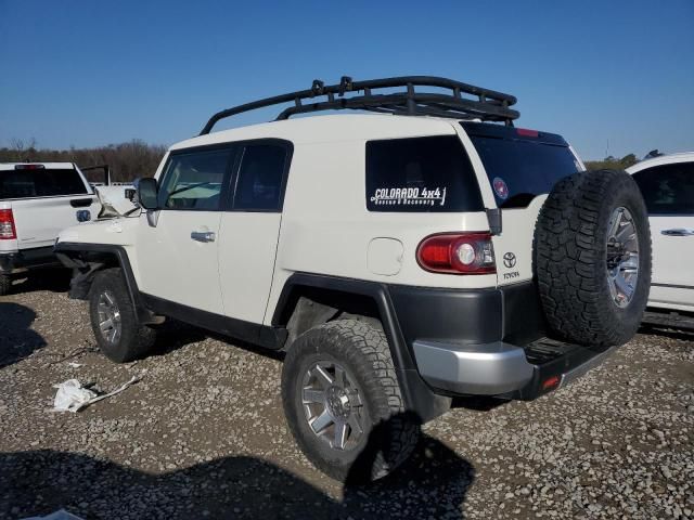
<instances>
[{"instance_id":1,"label":"front wheel of the white SUV, with chunky tire and alloy rim","mask_svg":"<svg viewBox=\"0 0 694 520\"><path fill-rule=\"evenodd\" d=\"M111 361L127 363L152 350L156 332L139 324L119 269L97 274L89 294L89 314L97 343Z\"/></svg>"}]
</instances>

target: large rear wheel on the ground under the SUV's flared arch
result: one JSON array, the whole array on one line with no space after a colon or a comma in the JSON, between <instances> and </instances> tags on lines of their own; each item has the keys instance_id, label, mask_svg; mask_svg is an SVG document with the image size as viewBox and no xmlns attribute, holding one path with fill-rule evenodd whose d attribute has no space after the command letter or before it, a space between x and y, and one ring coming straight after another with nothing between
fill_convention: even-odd
<instances>
[{"instance_id":1,"label":"large rear wheel on the ground under the SUV's flared arch","mask_svg":"<svg viewBox=\"0 0 694 520\"><path fill-rule=\"evenodd\" d=\"M282 399L304 454L339 481L386 476L419 439L383 329L364 322L339 320L299 336L284 361Z\"/></svg>"}]
</instances>

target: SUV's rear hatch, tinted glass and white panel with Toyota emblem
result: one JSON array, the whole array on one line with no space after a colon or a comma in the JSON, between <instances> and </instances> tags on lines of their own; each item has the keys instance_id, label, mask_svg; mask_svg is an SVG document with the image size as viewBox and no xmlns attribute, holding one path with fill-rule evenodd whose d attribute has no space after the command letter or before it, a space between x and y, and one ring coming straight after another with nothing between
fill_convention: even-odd
<instances>
[{"instance_id":1,"label":"SUV's rear hatch, tinted glass and white panel with Toyota emblem","mask_svg":"<svg viewBox=\"0 0 694 520\"><path fill-rule=\"evenodd\" d=\"M485 167L502 233L493 237L499 285L532 278L532 236L554 184L583 170L561 135L481 122L461 122Z\"/></svg>"}]
</instances>

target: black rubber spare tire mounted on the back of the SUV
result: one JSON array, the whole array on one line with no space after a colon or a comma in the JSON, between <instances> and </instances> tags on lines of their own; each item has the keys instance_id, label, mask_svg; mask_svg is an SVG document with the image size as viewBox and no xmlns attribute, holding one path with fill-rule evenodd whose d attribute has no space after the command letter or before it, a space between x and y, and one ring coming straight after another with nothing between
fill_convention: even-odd
<instances>
[{"instance_id":1,"label":"black rubber spare tire mounted on the back of the SUV","mask_svg":"<svg viewBox=\"0 0 694 520\"><path fill-rule=\"evenodd\" d=\"M626 304L624 299L617 303L608 282L608 261L614 269L616 257L607 240L615 221L625 231L621 242L616 242L618 247L632 247L628 236L638 239L639 252L632 255L638 256L638 278L631 283L633 292ZM628 222L635 233L629 233ZM534 257L553 335L579 344L608 347L622 344L635 334L651 286L651 232L643 197L631 176L597 170L560 181L540 211Z\"/></svg>"}]
</instances>

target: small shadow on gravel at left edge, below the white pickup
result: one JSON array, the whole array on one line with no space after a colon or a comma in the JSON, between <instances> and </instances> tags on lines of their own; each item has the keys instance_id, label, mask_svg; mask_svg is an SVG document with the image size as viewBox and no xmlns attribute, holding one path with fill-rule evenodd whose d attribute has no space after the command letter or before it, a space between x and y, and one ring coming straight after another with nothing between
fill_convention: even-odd
<instances>
[{"instance_id":1,"label":"small shadow on gravel at left edge, below the white pickup","mask_svg":"<svg viewBox=\"0 0 694 520\"><path fill-rule=\"evenodd\" d=\"M28 307L0 302L0 368L46 347L43 337L30 328L34 320L36 312Z\"/></svg>"}]
</instances>

